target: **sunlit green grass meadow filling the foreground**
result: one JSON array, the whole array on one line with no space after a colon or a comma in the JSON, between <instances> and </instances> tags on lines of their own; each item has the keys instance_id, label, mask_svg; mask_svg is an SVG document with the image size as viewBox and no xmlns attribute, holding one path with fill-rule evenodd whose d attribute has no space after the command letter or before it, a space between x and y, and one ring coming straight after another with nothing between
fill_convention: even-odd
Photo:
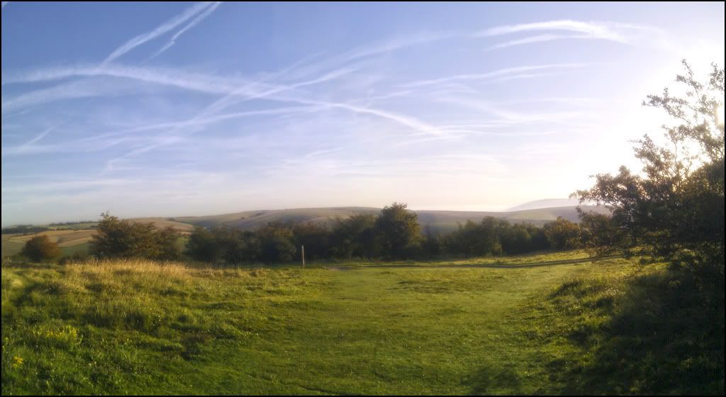
<instances>
[{"instance_id":1,"label":"sunlit green grass meadow filling the foreground","mask_svg":"<svg viewBox=\"0 0 726 397\"><path fill-rule=\"evenodd\" d=\"M613 348L613 320L632 306L629 280L657 278L663 266L582 258L330 269L4 263L2 393L656 390L646 375L598 371L613 361L601 351ZM550 264L516 267L535 262ZM669 390L718 393L703 382Z\"/></svg>"}]
</instances>

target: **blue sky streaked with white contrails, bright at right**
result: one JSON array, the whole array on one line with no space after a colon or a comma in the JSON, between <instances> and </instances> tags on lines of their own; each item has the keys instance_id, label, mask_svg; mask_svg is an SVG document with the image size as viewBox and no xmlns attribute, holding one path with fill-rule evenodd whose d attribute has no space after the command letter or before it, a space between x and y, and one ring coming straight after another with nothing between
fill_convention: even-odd
<instances>
[{"instance_id":1,"label":"blue sky streaked with white contrails, bright at right","mask_svg":"<svg viewBox=\"0 0 726 397\"><path fill-rule=\"evenodd\" d=\"M504 210L637 169L724 3L2 2L2 225Z\"/></svg>"}]
</instances>

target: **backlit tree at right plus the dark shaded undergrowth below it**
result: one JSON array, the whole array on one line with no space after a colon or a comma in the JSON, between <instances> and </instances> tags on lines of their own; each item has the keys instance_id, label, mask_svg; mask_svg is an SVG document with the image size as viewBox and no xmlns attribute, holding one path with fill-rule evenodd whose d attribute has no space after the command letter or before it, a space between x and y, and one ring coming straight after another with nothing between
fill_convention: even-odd
<instances>
[{"instance_id":1,"label":"backlit tree at right plus the dark shaded undergrowth below it","mask_svg":"<svg viewBox=\"0 0 726 397\"><path fill-rule=\"evenodd\" d=\"M674 121L664 125L667 145L644 136L635 147L641 173L621 166L576 193L613 210L609 219L582 213L595 253L648 253L669 272L634 277L611 322L587 332L603 342L586 340L594 360L577 373L590 378L568 393L724 393L724 125L716 118L724 70L712 65L701 83L683 64L684 97L665 89L644 102Z\"/></svg>"}]
</instances>

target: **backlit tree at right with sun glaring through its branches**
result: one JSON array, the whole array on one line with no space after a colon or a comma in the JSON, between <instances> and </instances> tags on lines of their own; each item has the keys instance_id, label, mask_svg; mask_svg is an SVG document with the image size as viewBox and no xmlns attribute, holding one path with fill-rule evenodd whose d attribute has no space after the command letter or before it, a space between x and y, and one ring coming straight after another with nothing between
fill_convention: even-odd
<instances>
[{"instance_id":1,"label":"backlit tree at right with sun glaring through its branches","mask_svg":"<svg viewBox=\"0 0 726 397\"><path fill-rule=\"evenodd\" d=\"M666 144L647 134L636 143L642 173L622 166L595 176L595 186L574 195L612 210L612 224L627 253L664 258L674 269L701 271L723 281L724 269L724 70L711 65L700 82L685 60L676 78L685 94L669 89L649 95L643 105L658 107L673 123L664 125ZM700 269L700 270L699 270ZM715 271L715 274L714 274Z\"/></svg>"}]
</instances>

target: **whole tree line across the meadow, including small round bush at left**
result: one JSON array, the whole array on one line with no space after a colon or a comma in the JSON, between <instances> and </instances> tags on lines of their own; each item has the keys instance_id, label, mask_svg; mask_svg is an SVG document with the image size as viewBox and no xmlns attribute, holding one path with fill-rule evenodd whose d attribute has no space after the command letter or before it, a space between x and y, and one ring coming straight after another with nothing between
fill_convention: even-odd
<instances>
[{"instance_id":1,"label":"whole tree line across the meadow, including small round bush at left","mask_svg":"<svg viewBox=\"0 0 726 397\"><path fill-rule=\"evenodd\" d=\"M489 216L442 233L428 226L422 229L407 205L393 203L378 215L356 214L330 224L270 223L255 231L197 226L184 239L171 228L158 229L102 213L98 233L91 240L91 255L229 265L284 263L298 260L304 246L307 261L470 258L584 247L583 230L563 218L537 227ZM53 245L45 236L34 237L23 254L36 261L57 257L60 251Z\"/></svg>"}]
</instances>

